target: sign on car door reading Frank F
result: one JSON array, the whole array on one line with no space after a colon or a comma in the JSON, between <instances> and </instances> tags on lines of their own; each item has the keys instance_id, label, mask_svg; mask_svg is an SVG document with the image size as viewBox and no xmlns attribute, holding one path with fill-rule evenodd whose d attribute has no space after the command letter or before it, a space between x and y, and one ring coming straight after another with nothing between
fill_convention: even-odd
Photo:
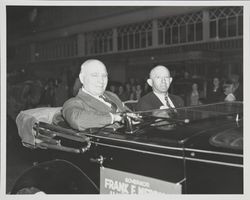
<instances>
[{"instance_id":1,"label":"sign on car door reading Frank F","mask_svg":"<svg viewBox=\"0 0 250 200\"><path fill-rule=\"evenodd\" d=\"M181 194L181 184L100 168L101 194Z\"/></svg>"}]
</instances>

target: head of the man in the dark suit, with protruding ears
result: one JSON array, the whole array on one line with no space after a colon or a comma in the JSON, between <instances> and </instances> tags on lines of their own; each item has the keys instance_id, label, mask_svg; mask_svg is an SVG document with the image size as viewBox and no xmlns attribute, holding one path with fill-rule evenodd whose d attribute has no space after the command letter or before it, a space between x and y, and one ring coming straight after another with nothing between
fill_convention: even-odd
<instances>
[{"instance_id":1,"label":"head of the man in the dark suit, with protruding ears","mask_svg":"<svg viewBox=\"0 0 250 200\"><path fill-rule=\"evenodd\" d=\"M152 87L153 91L160 94L167 94L168 88L172 82L170 72L167 67L157 65L149 73L147 83Z\"/></svg>"}]
</instances>

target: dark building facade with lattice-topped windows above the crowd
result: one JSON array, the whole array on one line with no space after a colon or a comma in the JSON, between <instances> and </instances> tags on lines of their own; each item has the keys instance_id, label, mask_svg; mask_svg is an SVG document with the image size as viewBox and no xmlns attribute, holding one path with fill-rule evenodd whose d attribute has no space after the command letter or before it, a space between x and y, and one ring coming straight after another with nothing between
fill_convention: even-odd
<instances>
[{"instance_id":1,"label":"dark building facade with lattice-topped windows above the crowd","mask_svg":"<svg viewBox=\"0 0 250 200\"><path fill-rule=\"evenodd\" d=\"M240 6L37 6L8 26L8 70L77 74L84 60L99 58L120 82L144 79L156 64L206 78L243 74Z\"/></svg>"}]
</instances>

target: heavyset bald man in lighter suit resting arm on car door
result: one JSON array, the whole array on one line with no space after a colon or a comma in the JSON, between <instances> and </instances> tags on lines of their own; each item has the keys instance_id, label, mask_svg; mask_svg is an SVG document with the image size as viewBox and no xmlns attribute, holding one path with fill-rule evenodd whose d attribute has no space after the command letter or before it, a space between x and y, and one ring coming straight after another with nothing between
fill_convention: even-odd
<instances>
[{"instance_id":1,"label":"heavyset bald man in lighter suit resting arm on car door","mask_svg":"<svg viewBox=\"0 0 250 200\"><path fill-rule=\"evenodd\" d=\"M101 61L90 59L84 62L79 79L82 88L62 108L63 117L72 128L85 130L112 125L122 120L121 112L130 111L116 94L105 91L108 74Z\"/></svg>"}]
</instances>

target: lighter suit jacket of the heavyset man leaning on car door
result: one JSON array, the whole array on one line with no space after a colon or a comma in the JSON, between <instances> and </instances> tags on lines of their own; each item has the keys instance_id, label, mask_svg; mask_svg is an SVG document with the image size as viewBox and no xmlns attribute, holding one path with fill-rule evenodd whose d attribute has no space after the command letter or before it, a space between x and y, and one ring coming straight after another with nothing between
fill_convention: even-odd
<instances>
[{"instance_id":1,"label":"lighter suit jacket of the heavyset man leaning on car door","mask_svg":"<svg viewBox=\"0 0 250 200\"><path fill-rule=\"evenodd\" d=\"M103 94L107 99L117 105L117 112L126 111L121 100L116 94L105 91ZM105 103L83 92L66 101L62 108L62 115L68 124L77 130L87 128L103 127L111 123L111 108Z\"/></svg>"}]
</instances>

